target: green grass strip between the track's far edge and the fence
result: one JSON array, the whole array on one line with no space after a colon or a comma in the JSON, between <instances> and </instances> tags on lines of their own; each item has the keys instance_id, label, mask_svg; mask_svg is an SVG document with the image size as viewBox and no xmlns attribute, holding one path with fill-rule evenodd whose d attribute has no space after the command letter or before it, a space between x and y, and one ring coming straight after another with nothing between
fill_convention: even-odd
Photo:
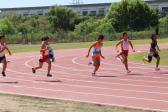
<instances>
[{"instance_id":1,"label":"green grass strip between the track's far edge and the fence","mask_svg":"<svg viewBox=\"0 0 168 112\"><path fill-rule=\"evenodd\" d=\"M158 39L158 43L165 43L168 42L167 38L164 39ZM104 41L103 46L115 46L118 43L118 41ZM132 40L133 45L139 45L139 44L150 44L151 39L145 39L145 40ZM59 49L75 49L75 48L89 48L93 42L80 42L80 43L57 43L57 44L51 44L51 47L53 50L59 50ZM21 52L33 52L33 51L39 51L40 44L38 45L8 45L10 51L12 53L21 53Z\"/></svg>"}]
</instances>

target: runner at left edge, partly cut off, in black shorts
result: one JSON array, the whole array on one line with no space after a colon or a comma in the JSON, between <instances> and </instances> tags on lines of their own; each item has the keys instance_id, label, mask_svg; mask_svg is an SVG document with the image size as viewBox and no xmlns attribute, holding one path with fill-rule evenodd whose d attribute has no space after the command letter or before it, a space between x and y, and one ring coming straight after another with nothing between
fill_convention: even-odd
<instances>
[{"instance_id":1,"label":"runner at left edge, partly cut off, in black shorts","mask_svg":"<svg viewBox=\"0 0 168 112\"><path fill-rule=\"evenodd\" d=\"M5 36L1 35L0 36L0 63L3 63L3 68L2 68L2 75L5 77L5 70L7 67L7 61L5 57L5 50L8 51L9 55L12 55L10 50L8 49L7 45L5 44Z\"/></svg>"}]
</instances>

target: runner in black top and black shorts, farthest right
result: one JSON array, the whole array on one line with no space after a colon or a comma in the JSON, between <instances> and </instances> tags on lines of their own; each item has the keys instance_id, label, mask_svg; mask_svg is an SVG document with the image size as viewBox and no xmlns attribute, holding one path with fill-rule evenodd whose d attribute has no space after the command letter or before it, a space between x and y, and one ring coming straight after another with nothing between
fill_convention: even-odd
<instances>
[{"instance_id":1,"label":"runner in black top and black shorts, farthest right","mask_svg":"<svg viewBox=\"0 0 168 112\"><path fill-rule=\"evenodd\" d=\"M156 48L160 51L159 46L157 45L157 34L152 34L151 36L152 39L152 43L151 43L151 47L150 50L148 52L148 59L146 59L145 57L143 58L143 61L146 61L148 63L151 63L152 61L152 57L154 56L157 61L156 61L156 71L159 71L160 68L158 68L159 66L159 62L160 62L160 56L158 54L158 52L156 51Z\"/></svg>"}]
</instances>

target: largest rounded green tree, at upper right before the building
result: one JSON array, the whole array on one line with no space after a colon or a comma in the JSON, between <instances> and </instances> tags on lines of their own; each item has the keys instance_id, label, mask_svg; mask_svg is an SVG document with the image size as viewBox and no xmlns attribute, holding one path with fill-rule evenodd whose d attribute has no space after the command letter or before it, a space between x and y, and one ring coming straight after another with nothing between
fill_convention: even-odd
<instances>
[{"instance_id":1,"label":"largest rounded green tree, at upper right before the building","mask_svg":"<svg viewBox=\"0 0 168 112\"><path fill-rule=\"evenodd\" d=\"M116 29L146 28L158 24L158 9L144 0L121 0L111 4L105 18Z\"/></svg>"}]
</instances>

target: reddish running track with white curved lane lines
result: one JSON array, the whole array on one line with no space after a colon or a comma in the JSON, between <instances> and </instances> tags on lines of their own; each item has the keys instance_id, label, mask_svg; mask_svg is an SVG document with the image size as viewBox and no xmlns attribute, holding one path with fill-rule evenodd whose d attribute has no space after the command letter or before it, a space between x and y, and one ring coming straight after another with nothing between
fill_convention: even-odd
<instances>
[{"instance_id":1,"label":"reddish running track with white curved lane lines","mask_svg":"<svg viewBox=\"0 0 168 112\"><path fill-rule=\"evenodd\" d=\"M149 45L136 45L136 51L147 51ZM160 49L167 44L159 44ZM103 47L99 77L92 77L93 66L85 58L88 48L57 50L56 62L46 77L47 64L36 74L31 68L38 64L39 52L16 53L7 57L7 77L0 78L0 92L168 112L168 67L129 62L132 71L126 74L122 63L115 59L114 47ZM130 50L132 53L132 50Z\"/></svg>"}]
</instances>

